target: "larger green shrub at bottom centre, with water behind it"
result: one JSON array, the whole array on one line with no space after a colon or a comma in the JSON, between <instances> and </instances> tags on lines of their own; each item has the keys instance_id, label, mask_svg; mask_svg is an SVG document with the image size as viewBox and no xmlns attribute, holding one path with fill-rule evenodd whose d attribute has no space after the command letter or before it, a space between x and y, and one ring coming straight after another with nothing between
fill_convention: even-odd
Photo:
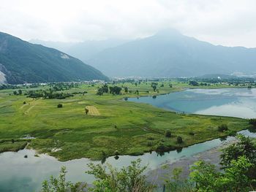
<instances>
[{"instance_id":1,"label":"larger green shrub at bottom centre, with water behind it","mask_svg":"<svg viewBox=\"0 0 256 192\"><path fill-rule=\"evenodd\" d=\"M143 174L146 166L140 166L140 162L140 159L132 161L129 166L121 169L115 169L110 164L108 167L100 164L89 164L91 170L86 173L94 175L96 179L94 187L90 190L94 192L150 191L153 186L146 182L146 175Z\"/></svg>"}]
</instances>

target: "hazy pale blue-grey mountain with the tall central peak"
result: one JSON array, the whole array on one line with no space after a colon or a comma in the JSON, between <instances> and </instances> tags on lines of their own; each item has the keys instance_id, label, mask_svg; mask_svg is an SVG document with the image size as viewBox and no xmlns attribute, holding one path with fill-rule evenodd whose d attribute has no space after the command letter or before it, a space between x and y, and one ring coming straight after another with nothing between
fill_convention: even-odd
<instances>
[{"instance_id":1,"label":"hazy pale blue-grey mountain with the tall central peak","mask_svg":"<svg viewBox=\"0 0 256 192\"><path fill-rule=\"evenodd\" d=\"M108 48L88 61L109 77L196 77L256 72L256 48L211 45L173 29Z\"/></svg>"}]
</instances>

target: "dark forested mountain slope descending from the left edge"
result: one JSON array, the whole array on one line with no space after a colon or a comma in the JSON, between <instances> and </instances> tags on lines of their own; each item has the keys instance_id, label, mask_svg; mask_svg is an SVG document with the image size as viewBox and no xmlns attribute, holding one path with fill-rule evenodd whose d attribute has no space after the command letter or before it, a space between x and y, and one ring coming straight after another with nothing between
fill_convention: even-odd
<instances>
[{"instance_id":1,"label":"dark forested mountain slope descending from the left edge","mask_svg":"<svg viewBox=\"0 0 256 192\"><path fill-rule=\"evenodd\" d=\"M99 70L66 53L0 32L1 81L20 84L107 79Z\"/></svg>"}]
</instances>

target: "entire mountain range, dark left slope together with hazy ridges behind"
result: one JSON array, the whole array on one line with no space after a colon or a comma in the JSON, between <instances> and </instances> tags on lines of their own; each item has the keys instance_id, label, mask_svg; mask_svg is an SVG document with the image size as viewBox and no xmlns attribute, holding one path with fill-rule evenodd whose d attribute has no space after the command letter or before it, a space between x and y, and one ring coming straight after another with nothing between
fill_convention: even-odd
<instances>
[{"instance_id":1,"label":"entire mountain range, dark left slope together with hazy ridges behind","mask_svg":"<svg viewBox=\"0 0 256 192\"><path fill-rule=\"evenodd\" d=\"M256 48L212 45L174 29L131 41L31 42L42 45L0 33L0 82L256 74Z\"/></svg>"}]
</instances>

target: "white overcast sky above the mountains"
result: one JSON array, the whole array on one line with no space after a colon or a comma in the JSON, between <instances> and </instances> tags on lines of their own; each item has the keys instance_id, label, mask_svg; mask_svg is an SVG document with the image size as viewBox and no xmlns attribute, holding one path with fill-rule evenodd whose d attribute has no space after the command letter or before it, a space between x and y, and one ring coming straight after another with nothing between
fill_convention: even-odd
<instances>
[{"instance_id":1,"label":"white overcast sky above the mountains","mask_svg":"<svg viewBox=\"0 0 256 192\"><path fill-rule=\"evenodd\" d=\"M256 1L0 0L0 31L25 40L135 39L164 28L214 45L256 47Z\"/></svg>"}]
</instances>

